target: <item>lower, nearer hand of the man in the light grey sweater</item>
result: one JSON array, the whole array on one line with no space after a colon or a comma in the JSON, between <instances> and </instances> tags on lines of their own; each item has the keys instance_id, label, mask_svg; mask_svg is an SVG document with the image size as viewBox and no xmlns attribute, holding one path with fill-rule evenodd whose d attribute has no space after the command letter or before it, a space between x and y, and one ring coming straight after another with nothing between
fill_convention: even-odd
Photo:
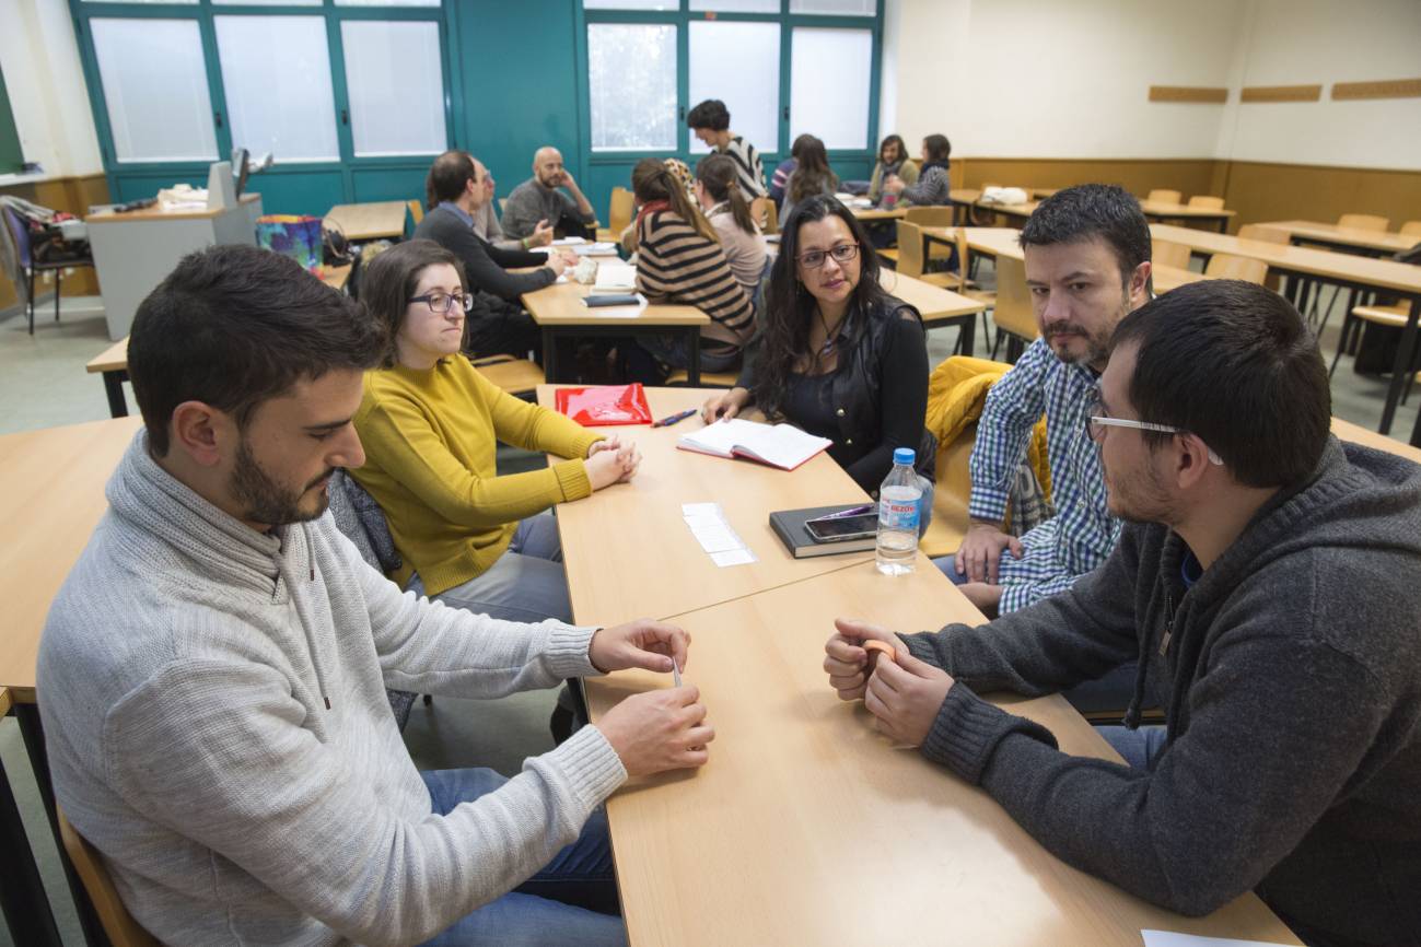
<instances>
[{"instance_id":1,"label":"lower, nearer hand of the man in the light grey sweater","mask_svg":"<svg viewBox=\"0 0 1421 947\"><path fill-rule=\"evenodd\" d=\"M715 730L693 686L632 694L597 721L632 777L705 765Z\"/></svg>"}]
</instances>

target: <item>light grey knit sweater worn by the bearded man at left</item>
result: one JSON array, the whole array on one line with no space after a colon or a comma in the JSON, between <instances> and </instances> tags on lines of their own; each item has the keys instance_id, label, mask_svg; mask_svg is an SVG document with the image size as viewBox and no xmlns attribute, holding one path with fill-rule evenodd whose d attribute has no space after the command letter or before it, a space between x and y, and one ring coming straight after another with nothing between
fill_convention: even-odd
<instances>
[{"instance_id":1,"label":"light grey knit sweater worn by the bearded man at left","mask_svg":"<svg viewBox=\"0 0 1421 947\"><path fill-rule=\"evenodd\" d=\"M595 673L593 629L402 595L330 515L259 534L139 432L55 598L38 694L60 805L169 944L412 944L571 842L625 778L594 727L448 816L385 687L497 697Z\"/></svg>"}]
</instances>

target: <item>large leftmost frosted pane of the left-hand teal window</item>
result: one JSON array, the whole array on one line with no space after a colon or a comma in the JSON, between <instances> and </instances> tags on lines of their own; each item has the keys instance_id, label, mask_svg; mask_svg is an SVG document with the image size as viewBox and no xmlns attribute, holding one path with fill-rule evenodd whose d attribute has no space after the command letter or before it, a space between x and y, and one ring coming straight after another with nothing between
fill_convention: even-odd
<instances>
[{"instance_id":1,"label":"large leftmost frosted pane of the left-hand teal window","mask_svg":"<svg viewBox=\"0 0 1421 947\"><path fill-rule=\"evenodd\" d=\"M119 162L216 160L196 20L90 20Z\"/></svg>"}]
</instances>

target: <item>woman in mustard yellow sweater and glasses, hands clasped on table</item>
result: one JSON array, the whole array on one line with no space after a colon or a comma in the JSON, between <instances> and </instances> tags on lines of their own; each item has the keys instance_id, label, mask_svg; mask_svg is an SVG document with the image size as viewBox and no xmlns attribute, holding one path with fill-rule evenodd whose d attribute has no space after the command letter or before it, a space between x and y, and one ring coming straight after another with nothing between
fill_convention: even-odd
<instances>
[{"instance_id":1,"label":"woman in mustard yellow sweater and glasses, hands clasped on table","mask_svg":"<svg viewBox=\"0 0 1421 947\"><path fill-rule=\"evenodd\" d=\"M459 261L429 240L396 244L365 271L362 298L389 328L385 366L365 375L355 429L404 565L391 578L495 618L573 620L549 508L631 480L641 456L519 400L460 355L469 297ZM497 442L568 457L497 476Z\"/></svg>"}]
</instances>

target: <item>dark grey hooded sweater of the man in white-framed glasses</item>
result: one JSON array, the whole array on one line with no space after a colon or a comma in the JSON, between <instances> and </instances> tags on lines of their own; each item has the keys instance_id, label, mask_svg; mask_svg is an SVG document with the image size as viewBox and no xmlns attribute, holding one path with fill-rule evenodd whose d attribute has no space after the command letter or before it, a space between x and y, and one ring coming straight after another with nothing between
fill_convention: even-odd
<instances>
[{"instance_id":1,"label":"dark grey hooded sweater of the man in white-framed glasses","mask_svg":"<svg viewBox=\"0 0 1421 947\"><path fill-rule=\"evenodd\" d=\"M904 636L958 680L922 752L1157 904L1204 914L1253 889L1312 944L1421 944L1421 467L1331 439L1192 588L1184 552L1130 525L1069 592ZM1150 772L1061 754L973 694L1127 659L1131 716L1148 696L1168 718Z\"/></svg>"}]
</instances>

